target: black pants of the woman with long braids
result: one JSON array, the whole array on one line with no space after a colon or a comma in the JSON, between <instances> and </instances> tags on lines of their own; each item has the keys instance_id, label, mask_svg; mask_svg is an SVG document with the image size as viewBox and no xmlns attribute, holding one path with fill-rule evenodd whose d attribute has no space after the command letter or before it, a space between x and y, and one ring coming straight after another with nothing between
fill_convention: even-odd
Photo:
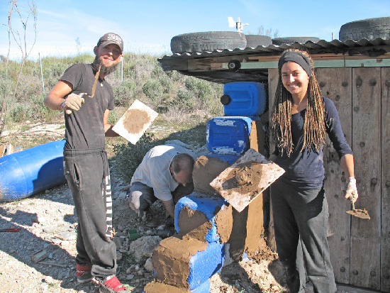
<instances>
[{"instance_id":1,"label":"black pants of the woman with long braids","mask_svg":"<svg viewBox=\"0 0 390 293\"><path fill-rule=\"evenodd\" d=\"M306 269L315 293L335 293L324 189L299 190L279 179L272 184L271 200L277 253L290 292L305 292Z\"/></svg>"}]
</instances>

